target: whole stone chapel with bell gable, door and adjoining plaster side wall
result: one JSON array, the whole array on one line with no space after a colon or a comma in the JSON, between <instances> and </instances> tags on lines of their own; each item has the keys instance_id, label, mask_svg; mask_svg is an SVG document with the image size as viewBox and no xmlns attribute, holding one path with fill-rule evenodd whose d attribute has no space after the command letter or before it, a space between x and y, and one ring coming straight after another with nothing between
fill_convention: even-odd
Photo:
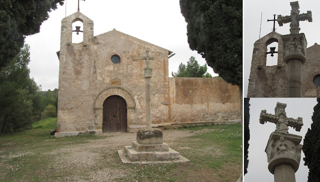
<instances>
[{"instance_id":1,"label":"whole stone chapel with bell gable, door and adjoining plaster side wall","mask_svg":"<svg viewBox=\"0 0 320 182\"><path fill-rule=\"evenodd\" d=\"M79 43L72 43L75 21L83 23ZM237 86L220 77L168 77L170 50L115 29L94 36L93 21L79 11L61 20L60 38L56 136L145 127L145 60L140 57L146 50L154 57L149 63L152 127L241 118Z\"/></svg>"}]
</instances>

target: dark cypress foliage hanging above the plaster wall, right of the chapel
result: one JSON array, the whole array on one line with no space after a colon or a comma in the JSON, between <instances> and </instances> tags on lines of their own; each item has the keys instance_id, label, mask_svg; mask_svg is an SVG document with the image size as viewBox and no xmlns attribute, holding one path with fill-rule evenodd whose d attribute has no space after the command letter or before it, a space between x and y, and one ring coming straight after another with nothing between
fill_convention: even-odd
<instances>
[{"instance_id":1,"label":"dark cypress foliage hanging above the plaster wall, right of the chapel","mask_svg":"<svg viewBox=\"0 0 320 182\"><path fill-rule=\"evenodd\" d=\"M189 47L242 91L242 0L180 0Z\"/></svg>"}]
</instances>

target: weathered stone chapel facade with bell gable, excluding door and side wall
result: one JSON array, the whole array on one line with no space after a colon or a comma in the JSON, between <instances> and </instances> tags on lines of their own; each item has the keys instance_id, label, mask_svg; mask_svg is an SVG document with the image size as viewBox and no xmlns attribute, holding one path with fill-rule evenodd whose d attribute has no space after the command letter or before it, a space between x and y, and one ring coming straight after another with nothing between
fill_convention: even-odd
<instances>
[{"instance_id":1,"label":"weathered stone chapel facade with bell gable, excluding door and side wall","mask_svg":"<svg viewBox=\"0 0 320 182\"><path fill-rule=\"evenodd\" d=\"M71 24L78 17L83 21L83 42L70 43ZM145 56L146 49L154 56L150 60L152 123L167 122L169 51L115 29L93 37L93 21L80 12L63 18L57 116L60 131L101 129L102 105L97 104L109 94L127 99L128 126L145 124L145 60L140 56ZM120 56L120 63L111 62L113 54Z\"/></svg>"}]
</instances>

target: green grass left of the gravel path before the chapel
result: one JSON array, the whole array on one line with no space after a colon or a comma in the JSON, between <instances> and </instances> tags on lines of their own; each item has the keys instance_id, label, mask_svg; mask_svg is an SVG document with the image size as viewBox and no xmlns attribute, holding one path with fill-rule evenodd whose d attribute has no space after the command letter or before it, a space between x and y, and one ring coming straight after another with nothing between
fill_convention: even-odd
<instances>
[{"instance_id":1,"label":"green grass left of the gravel path before the chapel","mask_svg":"<svg viewBox=\"0 0 320 182\"><path fill-rule=\"evenodd\" d=\"M93 134L55 138L50 135L56 118L47 118L32 124L32 129L0 135L0 181L41 181L46 175L56 179L63 171L41 173L43 168L57 161L57 155L47 154L61 146L86 143L88 140L105 138ZM2 156L2 157L1 157ZM54 170L53 170L54 171Z\"/></svg>"}]
</instances>

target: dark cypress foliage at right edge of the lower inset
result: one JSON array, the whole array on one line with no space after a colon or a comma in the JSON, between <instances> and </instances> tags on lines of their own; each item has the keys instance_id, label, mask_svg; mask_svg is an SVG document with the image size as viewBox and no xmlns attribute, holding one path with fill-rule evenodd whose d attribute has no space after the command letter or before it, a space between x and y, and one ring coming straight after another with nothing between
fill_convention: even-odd
<instances>
[{"instance_id":1,"label":"dark cypress foliage at right edge of the lower inset","mask_svg":"<svg viewBox=\"0 0 320 182\"><path fill-rule=\"evenodd\" d=\"M313 108L311 129L308 128L304 140L302 151L304 165L309 168L308 182L320 181L320 98Z\"/></svg>"}]
</instances>

